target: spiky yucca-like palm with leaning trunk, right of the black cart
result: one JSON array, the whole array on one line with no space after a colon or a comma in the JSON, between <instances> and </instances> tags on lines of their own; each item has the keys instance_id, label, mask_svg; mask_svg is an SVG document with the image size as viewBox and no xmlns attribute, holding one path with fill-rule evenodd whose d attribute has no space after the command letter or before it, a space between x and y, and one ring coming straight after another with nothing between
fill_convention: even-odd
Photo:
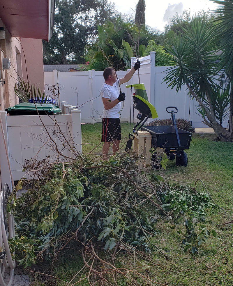
<instances>
[{"instance_id":1,"label":"spiky yucca-like palm with leaning trunk, right of the black cart","mask_svg":"<svg viewBox=\"0 0 233 286\"><path fill-rule=\"evenodd\" d=\"M219 140L230 141L230 133L218 122L213 100L219 89L216 84L219 47L215 26L209 19L197 17L188 24L184 23L184 33L171 37L171 45L166 46L170 55L165 56L174 62L174 66L167 69L164 81L169 87L175 87L176 92L186 85L189 95L204 111L202 122L214 129Z\"/></svg>"}]
</instances>

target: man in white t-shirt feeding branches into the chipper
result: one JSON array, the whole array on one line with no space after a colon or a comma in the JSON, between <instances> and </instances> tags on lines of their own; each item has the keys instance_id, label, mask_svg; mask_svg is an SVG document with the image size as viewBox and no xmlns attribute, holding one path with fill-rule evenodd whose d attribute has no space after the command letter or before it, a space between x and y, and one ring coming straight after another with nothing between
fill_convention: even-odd
<instances>
[{"instance_id":1,"label":"man in white t-shirt feeding branches into the chipper","mask_svg":"<svg viewBox=\"0 0 233 286\"><path fill-rule=\"evenodd\" d=\"M119 79L119 84L122 85L128 82L136 70L140 68L140 61L135 63L134 67L123 77ZM119 150L121 140L121 125L120 125L120 110L121 101L125 100L125 94L119 94L119 84L114 68L105 68L103 72L105 83L101 88L101 97L104 105L102 114L102 138L103 144L103 160L107 159L110 144L112 144L113 155Z\"/></svg>"}]
</instances>

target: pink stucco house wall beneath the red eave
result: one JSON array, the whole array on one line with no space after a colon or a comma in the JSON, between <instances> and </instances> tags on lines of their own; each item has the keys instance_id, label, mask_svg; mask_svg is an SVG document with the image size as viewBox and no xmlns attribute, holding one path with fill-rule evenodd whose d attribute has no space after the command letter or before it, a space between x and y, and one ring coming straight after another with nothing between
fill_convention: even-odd
<instances>
[{"instance_id":1,"label":"pink stucco house wall beneath the red eave","mask_svg":"<svg viewBox=\"0 0 233 286\"><path fill-rule=\"evenodd\" d=\"M5 110L7 107L19 103L14 92L15 82L19 78L27 80L28 74L28 80L44 90L43 49L41 39L12 37L1 19L0 27L4 27L6 30L6 39L0 39L0 110ZM10 59L11 68L9 70L2 69L2 57Z\"/></svg>"}]
</instances>

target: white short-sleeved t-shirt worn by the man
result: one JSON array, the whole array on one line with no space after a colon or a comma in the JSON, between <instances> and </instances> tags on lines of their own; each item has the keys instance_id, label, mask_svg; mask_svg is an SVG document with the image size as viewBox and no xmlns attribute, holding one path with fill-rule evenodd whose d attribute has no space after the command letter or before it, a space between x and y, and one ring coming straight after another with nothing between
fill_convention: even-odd
<instances>
[{"instance_id":1,"label":"white short-sleeved t-shirt worn by the man","mask_svg":"<svg viewBox=\"0 0 233 286\"><path fill-rule=\"evenodd\" d=\"M113 85L107 85L104 83L101 88L101 99L103 97L109 98L111 101L114 101L119 97L119 90L118 90L118 82L115 82ZM113 108L106 110L103 109L102 117L105 118L119 118L121 110L121 103L118 102Z\"/></svg>"}]
</instances>

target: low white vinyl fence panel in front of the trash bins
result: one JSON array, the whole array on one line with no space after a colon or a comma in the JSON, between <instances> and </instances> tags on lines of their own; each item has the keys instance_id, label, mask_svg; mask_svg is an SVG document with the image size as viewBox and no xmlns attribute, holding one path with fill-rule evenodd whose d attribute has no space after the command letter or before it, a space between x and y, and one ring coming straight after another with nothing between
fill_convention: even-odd
<instances>
[{"instance_id":1,"label":"low white vinyl fence panel in front of the trash bins","mask_svg":"<svg viewBox=\"0 0 233 286\"><path fill-rule=\"evenodd\" d=\"M0 115L13 180L20 180L25 175L22 172L25 159L36 157L38 161L46 158L56 161L57 149L63 155L72 158L75 155L70 151L71 149L75 148L77 152L82 152L80 110L73 109L70 114L40 115L40 117L38 115L6 116L5 111L0 111ZM56 142L57 148L53 141ZM6 153L3 147L1 144L1 154ZM8 174L4 174L6 166L6 158L0 156L1 177L5 176L4 182L9 181Z\"/></svg>"}]
</instances>

